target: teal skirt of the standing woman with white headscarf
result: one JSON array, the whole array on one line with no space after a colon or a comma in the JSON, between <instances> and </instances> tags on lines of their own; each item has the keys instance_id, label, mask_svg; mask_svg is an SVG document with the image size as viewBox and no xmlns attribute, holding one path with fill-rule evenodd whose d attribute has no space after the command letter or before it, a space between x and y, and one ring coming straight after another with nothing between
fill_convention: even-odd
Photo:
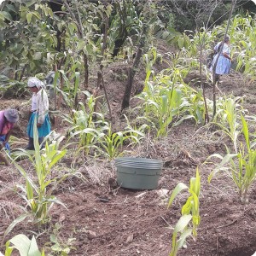
<instances>
[{"instance_id":1,"label":"teal skirt of the standing woman with white headscarf","mask_svg":"<svg viewBox=\"0 0 256 256\"><path fill-rule=\"evenodd\" d=\"M38 113L33 112L26 128L28 137L34 137L33 135L33 125L34 122L38 121ZM47 113L44 118L44 124L38 127L38 137L45 137L50 132L50 122L49 122L49 114Z\"/></svg>"}]
</instances>

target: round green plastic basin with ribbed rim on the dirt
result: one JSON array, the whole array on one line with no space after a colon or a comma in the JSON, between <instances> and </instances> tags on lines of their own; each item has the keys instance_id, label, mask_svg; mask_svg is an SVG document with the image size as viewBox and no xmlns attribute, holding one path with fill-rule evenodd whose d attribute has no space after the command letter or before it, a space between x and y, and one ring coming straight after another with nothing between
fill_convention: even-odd
<instances>
[{"instance_id":1,"label":"round green plastic basin with ribbed rim on the dirt","mask_svg":"<svg viewBox=\"0 0 256 256\"><path fill-rule=\"evenodd\" d=\"M118 157L115 159L117 167L117 183L126 189L156 189L162 160Z\"/></svg>"}]
</instances>

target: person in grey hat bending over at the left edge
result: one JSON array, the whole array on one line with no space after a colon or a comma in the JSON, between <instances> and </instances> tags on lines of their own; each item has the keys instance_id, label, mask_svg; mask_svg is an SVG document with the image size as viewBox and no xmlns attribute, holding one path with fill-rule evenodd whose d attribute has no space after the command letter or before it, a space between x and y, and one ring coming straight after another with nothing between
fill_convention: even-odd
<instances>
[{"instance_id":1,"label":"person in grey hat bending over at the left edge","mask_svg":"<svg viewBox=\"0 0 256 256\"><path fill-rule=\"evenodd\" d=\"M0 111L0 150L9 148L9 137L15 123L19 120L19 113L16 109L5 109ZM0 153L0 161L3 161L6 166L9 166L9 161Z\"/></svg>"}]
</instances>

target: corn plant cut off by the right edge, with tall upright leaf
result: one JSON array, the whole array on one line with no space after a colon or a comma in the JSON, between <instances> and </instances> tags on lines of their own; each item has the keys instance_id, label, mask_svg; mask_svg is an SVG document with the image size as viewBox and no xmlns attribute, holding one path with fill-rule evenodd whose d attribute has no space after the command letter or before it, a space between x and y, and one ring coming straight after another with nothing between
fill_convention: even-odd
<instances>
[{"instance_id":1,"label":"corn plant cut off by the right edge, with tall upright leaf","mask_svg":"<svg viewBox=\"0 0 256 256\"><path fill-rule=\"evenodd\" d=\"M212 157L217 157L221 160L218 166L211 172L208 181L211 182L212 177L218 172L226 172L234 182L241 202L248 201L248 189L252 186L256 178L256 149L253 149L255 143L249 141L249 131L247 121L241 116L242 134L245 140L245 145L240 144L238 153L230 154L227 148L227 153L224 157L220 154L212 154Z\"/></svg>"}]
</instances>

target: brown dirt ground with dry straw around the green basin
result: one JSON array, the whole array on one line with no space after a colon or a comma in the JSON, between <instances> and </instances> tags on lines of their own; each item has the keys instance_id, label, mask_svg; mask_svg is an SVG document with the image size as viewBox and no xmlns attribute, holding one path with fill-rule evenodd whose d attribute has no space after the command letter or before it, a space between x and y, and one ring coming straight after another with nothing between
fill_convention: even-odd
<instances>
[{"instance_id":1,"label":"brown dirt ground with dry straw around the green basin","mask_svg":"<svg viewBox=\"0 0 256 256\"><path fill-rule=\"evenodd\" d=\"M106 85L114 109L115 124L119 124L120 97L124 91L125 64L119 63L111 68L115 75L106 74ZM120 76L117 79L117 76ZM143 78L141 73L139 78ZM135 81L138 84L140 79ZM207 94L211 95L211 88ZM223 94L246 95L244 107L255 113L255 84L244 79L238 73L224 78L221 85ZM220 96L220 94L218 94ZM1 108L20 105L24 100L1 99ZM22 107L26 119L25 110ZM15 133L20 135L26 129L22 120ZM21 132L20 137L25 137ZM23 222L15 227L7 239L23 233L38 236L39 247L49 252L49 236L53 234L55 224L61 224L57 232L62 247L70 247L69 255L83 256L166 256L171 251L172 228L180 217L180 209L185 195L180 195L170 209L166 202L172 189L179 182L189 183L195 176L195 166L203 163L209 154L224 153L224 143L229 140L221 135L212 134L205 126L198 129L190 122L174 128L168 137L154 142L150 137L143 145L134 148L133 155L162 159L165 162L160 175L158 189L137 191L122 189L116 185L113 163L105 160L79 161L76 171L86 180L78 177L68 178L55 190L55 195L65 203L67 209L55 205L51 210L51 222L37 227ZM65 159L58 171L65 171L70 166ZM20 162L27 172L32 173L32 166L26 160ZM17 184L22 178L14 167L0 166L0 239L9 224L19 216L24 207L20 199ZM63 171L63 172L64 172ZM188 240L188 247L180 250L184 256L251 256L256 251L256 187L250 191L247 205L242 205L236 195L229 177L224 175L207 183L211 166L200 167L201 171L201 224L196 241ZM75 238L68 243L68 238ZM3 247L2 247L3 251ZM46 253L47 255L48 253ZM57 254L56 254L57 255Z\"/></svg>"}]
</instances>

